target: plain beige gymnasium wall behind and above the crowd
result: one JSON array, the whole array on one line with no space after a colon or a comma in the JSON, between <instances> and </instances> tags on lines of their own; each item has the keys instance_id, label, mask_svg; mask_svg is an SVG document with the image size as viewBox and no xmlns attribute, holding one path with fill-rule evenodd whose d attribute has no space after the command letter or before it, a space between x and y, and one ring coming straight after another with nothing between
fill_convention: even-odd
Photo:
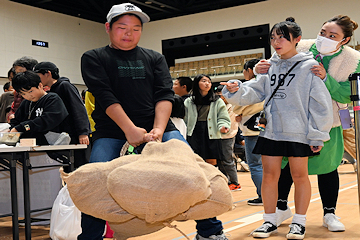
<instances>
[{"instance_id":1,"label":"plain beige gymnasium wall behind and above the crowd","mask_svg":"<svg viewBox=\"0 0 360 240\"><path fill-rule=\"evenodd\" d=\"M302 27L304 38L315 38L322 23L336 14L349 15L360 23L359 9L359 0L268 0L145 23L139 45L161 52L161 41L165 39L262 24L271 27L288 16ZM80 85L84 84L81 55L109 42L104 24L8 0L0 0L0 33L0 77L6 76L14 60L28 55L38 61L54 62L62 76ZM356 45L360 30L355 34ZM49 48L32 46L32 39L49 42Z\"/></svg>"}]
</instances>

